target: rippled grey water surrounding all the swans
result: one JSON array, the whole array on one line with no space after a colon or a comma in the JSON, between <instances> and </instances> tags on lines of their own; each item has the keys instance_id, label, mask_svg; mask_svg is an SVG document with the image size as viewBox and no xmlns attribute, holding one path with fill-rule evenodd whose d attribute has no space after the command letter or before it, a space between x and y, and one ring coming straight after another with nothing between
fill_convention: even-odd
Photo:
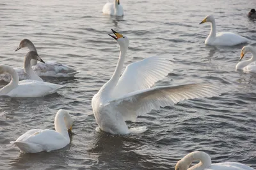
<instances>
[{"instance_id":1,"label":"rippled grey water surrounding all the swans","mask_svg":"<svg viewBox=\"0 0 256 170\"><path fill-rule=\"evenodd\" d=\"M45 78L66 85L58 94L0 98L0 169L173 169L194 150L209 153L212 162L236 161L256 168L256 74L235 71L243 45L205 46L209 24L199 25L214 13L218 31L255 41L256 21L246 13L256 1L121 0L124 18L102 15L105 3L1 1L1 64L22 67L28 49L14 50L28 38L43 60L67 64L80 73L76 78ZM130 39L125 66L153 55L169 56L175 60L174 70L157 85L209 82L221 86L222 96L182 101L128 122L129 127L147 126L143 134L96 132L91 100L113 74L118 59L110 29ZM29 129L54 129L60 108L74 118L69 146L22 154L10 144Z\"/></svg>"}]
</instances>

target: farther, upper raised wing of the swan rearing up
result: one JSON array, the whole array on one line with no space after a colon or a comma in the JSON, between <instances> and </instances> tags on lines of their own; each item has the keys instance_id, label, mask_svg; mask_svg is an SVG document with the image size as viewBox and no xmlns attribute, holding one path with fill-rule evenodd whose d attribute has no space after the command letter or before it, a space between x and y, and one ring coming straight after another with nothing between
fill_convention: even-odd
<instances>
[{"instance_id":1,"label":"farther, upper raised wing of the swan rearing up","mask_svg":"<svg viewBox=\"0 0 256 170\"><path fill-rule=\"evenodd\" d=\"M152 87L172 71L172 65L166 57L157 56L129 64L116 84L113 97Z\"/></svg>"}]
</instances>

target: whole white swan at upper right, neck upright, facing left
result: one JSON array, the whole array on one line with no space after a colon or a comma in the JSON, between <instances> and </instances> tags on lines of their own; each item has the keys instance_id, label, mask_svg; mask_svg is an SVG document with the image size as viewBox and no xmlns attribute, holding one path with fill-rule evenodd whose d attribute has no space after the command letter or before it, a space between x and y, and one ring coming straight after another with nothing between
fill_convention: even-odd
<instances>
[{"instance_id":1,"label":"whole white swan at upper right, neck upright, facing left","mask_svg":"<svg viewBox=\"0 0 256 170\"><path fill-rule=\"evenodd\" d=\"M211 32L209 36L205 39L205 45L212 46L233 46L242 43L247 43L250 41L247 38L234 34L232 32L218 32L216 33L216 24L213 15L208 15L200 22L203 24L205 22L211 22Z\"/></svg>"}]
</instances>

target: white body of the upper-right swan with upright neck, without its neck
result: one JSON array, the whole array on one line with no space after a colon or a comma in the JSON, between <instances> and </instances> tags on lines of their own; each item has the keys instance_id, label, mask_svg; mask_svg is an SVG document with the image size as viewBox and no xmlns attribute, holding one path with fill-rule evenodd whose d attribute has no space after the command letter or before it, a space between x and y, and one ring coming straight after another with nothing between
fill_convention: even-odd
<instances>
[{"instance_id":1,"label":"white body of the upper-right swan with upright neck, without its neck","mask_svg":"<svg viewBox=\"0 0 256 170\"><path fill-rule=\"evenodd\" d=\"M249 39L234 34L232 32L218 32L212 43L216 46L233 46L247 43ZM205 42L206 43L206 42Z\"/></svg>"}]
</instances>

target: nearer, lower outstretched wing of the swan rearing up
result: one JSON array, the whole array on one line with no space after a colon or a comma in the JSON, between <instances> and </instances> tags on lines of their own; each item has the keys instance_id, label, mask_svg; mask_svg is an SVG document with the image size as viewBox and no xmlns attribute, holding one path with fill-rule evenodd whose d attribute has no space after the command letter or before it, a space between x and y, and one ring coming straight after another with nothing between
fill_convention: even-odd
<instances>
[{"instance_id":1,"label":"nearer, lower outstretched wing of the swan rearing up","mask_svg":"<svg viewBox=\"0 0 256 170\"><path fill-rule=\"evenodd\" d=\"M160 107L170 106L186 99L219 96L219 88L210 84L189 84L175 87L153 87L126 94L109 104L116 106L124 120L135 121L138 115Z\"/></svg>"}]
</instances>

